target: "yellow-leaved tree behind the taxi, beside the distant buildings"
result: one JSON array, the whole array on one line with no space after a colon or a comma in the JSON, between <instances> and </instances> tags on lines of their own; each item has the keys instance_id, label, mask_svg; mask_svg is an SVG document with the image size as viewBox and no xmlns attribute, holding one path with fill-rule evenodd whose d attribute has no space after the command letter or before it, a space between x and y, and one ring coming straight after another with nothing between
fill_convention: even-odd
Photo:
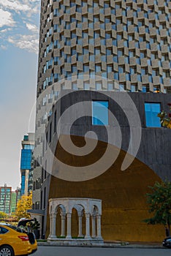
<instances>
[{"instance_id":1,"label":"yellow-leaved tree behind the taxi, beside the distant buildings","mask_svg":"<svg viewBox=\"0 0 171 256\"><path fill-rule=\"evenodd\" d=\"M29 195L22 195L20 200L18 200L17 208L15 211L16 217L20 218L29 218L30 215L27 213L28 209L32 207L32 192Z\"/></svg>"}]
</instances>

